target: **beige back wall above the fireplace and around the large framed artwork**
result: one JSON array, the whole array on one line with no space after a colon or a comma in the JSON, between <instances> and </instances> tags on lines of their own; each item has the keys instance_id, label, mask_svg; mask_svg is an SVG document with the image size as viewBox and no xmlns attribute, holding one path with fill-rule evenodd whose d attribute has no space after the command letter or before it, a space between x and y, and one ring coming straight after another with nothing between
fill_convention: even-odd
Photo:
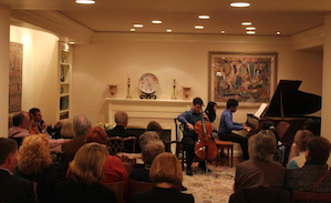
<instances>
[{"instance_id":1,"label":"beige back wall above the fireplace and around the large framed artwork","mask_svg":"<svg viewBox=\"0 0 331 203\"><path fill-rule=\"evenodd\" d=\"M96 34L91 44L74 45L72 115L85 113L93 123L106 121L107 84L118 84L116 97L125 98L130 77L131 94L138 98L137 82L146 72L158 77L159 99L172 98L177 79L178 99L183 99L180 87L190 85L190 98L207 101L209 51L278 52L277 80L303 80L302 91L321 94L322 53L294 51L286 37ZM256 110L240 108L235 120L245 122L246 113Z\"/></svg>"}]
</instances>

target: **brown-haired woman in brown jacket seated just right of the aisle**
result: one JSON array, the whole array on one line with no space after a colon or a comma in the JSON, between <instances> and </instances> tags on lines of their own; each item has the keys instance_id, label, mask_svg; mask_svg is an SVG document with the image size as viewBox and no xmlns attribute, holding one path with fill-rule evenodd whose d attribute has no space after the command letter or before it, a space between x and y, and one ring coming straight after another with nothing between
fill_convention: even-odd
<instances>
[{"instance_id":1,"label":"brown-haired woman in brown jacket seated just right of the aisle","mask_svg":"<svg viewBox=\"0 0 331 203\"><path fill-rule=\"evenodd\" d=\"M237 165L235 191L241 187L283 187L286 169L273 161L276 138L262 130L252 141L252 160Z\"/></svg>"}]
</instances>

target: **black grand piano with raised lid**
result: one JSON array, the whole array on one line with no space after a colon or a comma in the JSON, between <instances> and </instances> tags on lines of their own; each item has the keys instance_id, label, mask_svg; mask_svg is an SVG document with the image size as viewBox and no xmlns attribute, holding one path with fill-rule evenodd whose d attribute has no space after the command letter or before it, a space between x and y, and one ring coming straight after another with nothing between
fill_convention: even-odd
<instances>
[{"instance_id":1,"label":"black grand piano with raised lid","mask_svg":"<svg viewBox=\"0 0 331 203\"><path fill-rule=\"evenodd\" d=\"M252 126L249 135L256 134L260 130L260 124L271 121L277 126L281 121L290 123L289 129L283 134L281 141L285 144L292 144L298 130L303 129L303 123L309 118L308 114L321 109L322 98L316 94L299 91L302 81L280 80L270 104L262 113L261 118L247 114L247 123Z\"/></svg>"}]
</instances>

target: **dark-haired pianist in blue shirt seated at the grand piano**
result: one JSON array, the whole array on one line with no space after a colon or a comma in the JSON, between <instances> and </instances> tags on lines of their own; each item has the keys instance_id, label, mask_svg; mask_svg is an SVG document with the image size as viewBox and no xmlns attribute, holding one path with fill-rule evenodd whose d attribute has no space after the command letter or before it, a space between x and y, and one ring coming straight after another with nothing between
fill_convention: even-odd
<instances>
[{"instance_id":1,"label":"dark-haired pianist in blue shirt seated at the grand piano","mask_svg":"<svg viewBox=\"0 0 331 203\"><path fill-rule=\"evenodd\" d=\"M247 130L250 131L251 128L246 124L240 124L232 122L232 113L237 111L238 101L234 99L229 99L227 101L227 109L220 115L220 122L218 128L218 136L219 140L224 141L232 141L239 143L242 150L244 160L248 160L248 143L247 138L240 136L239 134L235 134L232 130Z\"/></svg>"}]
</instances>

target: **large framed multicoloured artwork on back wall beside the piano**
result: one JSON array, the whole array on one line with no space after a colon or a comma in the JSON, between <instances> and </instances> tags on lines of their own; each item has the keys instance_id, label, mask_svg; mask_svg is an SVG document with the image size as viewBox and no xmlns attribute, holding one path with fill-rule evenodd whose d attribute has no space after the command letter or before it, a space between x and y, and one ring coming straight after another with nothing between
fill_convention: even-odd
<instances>
[{"instance_id":1,"label":"large framed multicoloured artwork on back wall beside the piano","mask_svg":"<svg viewBox=\"0 0 331 203\"><path fill-rule=\"evenodd\" d=\"M209 52L209 100L236 99L246 104L271 100L277 53Z\"/></svg>"}]
</instances>

